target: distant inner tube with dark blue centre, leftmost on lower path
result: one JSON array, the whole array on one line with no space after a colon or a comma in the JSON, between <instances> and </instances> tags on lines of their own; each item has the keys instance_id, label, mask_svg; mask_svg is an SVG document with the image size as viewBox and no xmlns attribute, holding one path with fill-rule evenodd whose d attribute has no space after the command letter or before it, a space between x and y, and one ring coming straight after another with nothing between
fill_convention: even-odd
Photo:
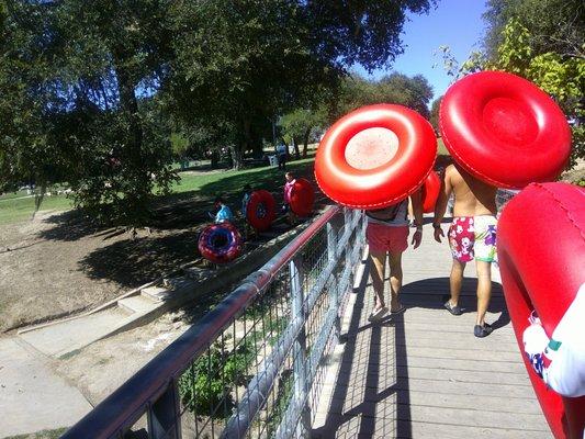
<instances>
[{"instance_id":1,"label":"distant inner tube with dark blue centre, leftmost on lower path","mask_svg":"<svg viewBox=\"0 0 585 439\"><path fill-rule=\"evenodd\" d=\"M212 224L201 232L198 248L205 259L226 263L241 252L241 236L230 223Z\"/></svg>"}]
</instances>

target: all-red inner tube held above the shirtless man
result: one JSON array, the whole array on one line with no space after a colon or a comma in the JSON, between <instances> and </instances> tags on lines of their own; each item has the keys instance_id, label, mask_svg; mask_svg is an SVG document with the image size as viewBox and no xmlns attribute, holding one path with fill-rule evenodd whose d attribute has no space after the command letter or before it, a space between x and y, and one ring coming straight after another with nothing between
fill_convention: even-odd
<instances>
[{"instance_id":1,"label":"all-red inner tube held above the shirtless man","mask_svg":"<svg viewBox=\"0 0 585 439\"><path fill-rule=\"evenodd\" d=\"M499 188L553 181L571 153L571 131L559 105L532 82L503 71L453 83L439 123L453 159Z\"/></svg>"}]
</instances>

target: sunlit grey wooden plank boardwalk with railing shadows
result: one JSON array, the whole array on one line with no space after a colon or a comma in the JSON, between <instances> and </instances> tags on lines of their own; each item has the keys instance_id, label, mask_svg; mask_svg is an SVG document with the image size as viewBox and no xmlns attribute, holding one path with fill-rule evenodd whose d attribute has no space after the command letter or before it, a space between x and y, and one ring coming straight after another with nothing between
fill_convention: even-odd
<instances>
[{"instance_id":1,"label":"sunlit grey wooden plank boardwalk with railing shadows","mask_svg":"<svg viewBox=\"0 0 585 439\"><path fill-rule=\"evenodd\" d=\"M351 294L341 342L312 404L313 437L551 438L521 362L497 269L486 318L496 329L479 339L473 336L475 270L469 266L465 273L461 304L466 312L450 315L442 307L448 245L435 243L431 234L425 226L420 248L404 255L405 313L368 322L373 306L368 269Z\"/></svg>"}]
</instances>

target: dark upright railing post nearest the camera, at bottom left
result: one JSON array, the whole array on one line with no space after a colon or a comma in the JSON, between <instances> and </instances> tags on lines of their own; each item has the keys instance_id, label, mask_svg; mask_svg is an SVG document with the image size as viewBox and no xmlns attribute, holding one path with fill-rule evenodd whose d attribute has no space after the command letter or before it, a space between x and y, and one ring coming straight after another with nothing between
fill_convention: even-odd
<instances>
[{"instance_id":1,"label":"dark upright railing post nearest the camera, at bottom left","mask_svg":"<svg viewBox=\"0 0 585 439\"><path fill-rule=\"evenodd\" d=\"M148 437L181 439L181 417L177 382L172 380L162 395L148 409Z\"/></svg>"}]
</instances>

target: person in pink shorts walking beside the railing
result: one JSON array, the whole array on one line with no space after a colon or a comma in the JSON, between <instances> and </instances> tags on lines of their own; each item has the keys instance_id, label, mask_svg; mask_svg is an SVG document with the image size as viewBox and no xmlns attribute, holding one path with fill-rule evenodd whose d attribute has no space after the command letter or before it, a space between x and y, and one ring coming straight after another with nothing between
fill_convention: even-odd
<instances>
[{"instance_id":1,"label":"person in pink shorts walking beside the railing","mask_svg":"<svg viewBox=\"0 0 585 439\"><path fill-rule=\"evenodd\" d=\"M410 195L415 216L416 232L413 236L414 248L420 245L423 238L423 202L420 191ZM375 304L370 322L379 320L387 313L384 300L384 277L386 255L390 264L391 313L400 313L404 307L398 301L402 288L402 254L408 248L408 199L390 207L367 211L368 228L365 238L370 246L370 261L372 286L375 293Z\"/></svg>"}]
</instances>

